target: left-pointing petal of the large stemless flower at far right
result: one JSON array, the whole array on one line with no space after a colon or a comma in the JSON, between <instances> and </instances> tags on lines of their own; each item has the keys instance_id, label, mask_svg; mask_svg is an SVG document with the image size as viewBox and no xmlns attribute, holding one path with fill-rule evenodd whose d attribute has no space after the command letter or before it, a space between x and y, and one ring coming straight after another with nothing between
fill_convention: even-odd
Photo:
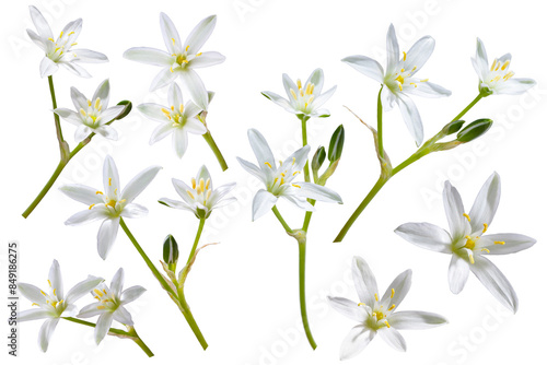
<instances>
[{"instance_id":1,"label":"left-pointing petal of the large stemless flower at far right","mask_svg":"<svg viewBox=\"0 0 547 365\"><path fill-rule=\"evenodd\" d=\"M452 252L452 238L443 228L430 223L406 223L395 233L418 247L437 252Z\"/></svg>"}]
</instances>

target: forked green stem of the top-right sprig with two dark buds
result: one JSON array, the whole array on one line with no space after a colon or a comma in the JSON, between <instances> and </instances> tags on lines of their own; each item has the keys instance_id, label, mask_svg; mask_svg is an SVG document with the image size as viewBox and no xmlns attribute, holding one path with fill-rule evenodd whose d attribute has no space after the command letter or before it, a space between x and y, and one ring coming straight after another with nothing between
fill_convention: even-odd
<instances>
[{"instance_id":1,"label":"forked green stem of the top-right sprig with two dark buds","mask_svg":"<svg viewBox=\"0 0 547 365\"><path fill-rule=\"evenodd\" d=\"M454 119L452 119L452 121L459 120L465 114L467 114L467 111L470 110L470 108L473 108L475 106L475 104L477 104L481 98L484 98L486 96L488 96L488 95L484 94L484 93L479 93L479 95L477 95L477 97L475 97L473 99L473 102L470 102L469 105L467 105L465 107L465 109L462 110L462 113L459 113ZM380 98L379 98L379 103L380 103ZM379 140L380 140L380 133L379 133ZM379 145L380 145L380 143L379 143ZM364 209L369 205L369 203L372 201L372 199L374 199L374 197L376 196L376 193L383 188L383 186L393 176L395 176L397 173L399 173L400 170L403 170L407 166L410 166L411 164L414 164L415 162L417 162L418 160L420 160L421 157L428 155L431 152L432 152L431 150L429 150L427 148L424 149L422 146L422 148L418 149L418 151L416 151L412 155L410 155L410 157L408 157L407 160L405 160L404 162L401 162L399 165L395 166L393 168L392 173L391 173L391 176L388 176L388 177L382 177L381 176L377 179L376 184L372 187L371 191L369 191L369 193L366 195L366 197L363 199L363 201L356 209L356 211L353 212L353 214L351 214L351 216L349 217L348 222L346 222L346 224L340 229L340 232L338 233L338 236L336 236L336 238L335 238L334 242L335 243L342 242L344 237L348 233L349 228L351 228L351 226L353 225L353 223L357 221L357 219L359 217L359 215L364 211Z\"/></svg>"}]
</instances>

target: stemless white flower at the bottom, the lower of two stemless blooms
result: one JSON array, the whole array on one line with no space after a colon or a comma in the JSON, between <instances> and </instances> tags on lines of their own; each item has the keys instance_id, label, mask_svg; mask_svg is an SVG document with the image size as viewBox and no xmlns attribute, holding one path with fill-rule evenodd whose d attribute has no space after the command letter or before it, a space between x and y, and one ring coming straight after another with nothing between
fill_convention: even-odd
<instances>
[{"instance_id":1,"label":"stemless white flower at the bottom, the lower of two stemless blooms","mask_svg":"<svg viewBox=\"0 0 547 365\"><path fill-rule=\"evenodd\" d=\"M398 330L429 329L447 322L444 317L434 313L396 311L410 290L411 270L395 278L382 298L377 294L376 279L362 258L353 258L351 271L360 303L342 297L328 297L333 308L359 322L344 340L340 360L358 355L376 334L396 350L406 351L405 339Z\"/></svg>"}]
</instances>

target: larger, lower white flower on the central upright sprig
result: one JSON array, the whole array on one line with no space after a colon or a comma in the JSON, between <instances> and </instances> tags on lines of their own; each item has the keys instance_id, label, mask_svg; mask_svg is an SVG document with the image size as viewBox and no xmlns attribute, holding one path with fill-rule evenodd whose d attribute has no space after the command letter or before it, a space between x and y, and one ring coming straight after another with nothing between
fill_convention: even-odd
<instances>
[{"instance_id":1,"label":"larger, lower white flower on the central upright sprig","mask_svg":"<svg viewBox=\"0 0 547 365\"><path fill-rule=\"evenodd\" d=\"M249 129L248 141L258 161L258 167L248 161L237 157L244 169L264 182L266 189L260 189L253 199L253 221L268 212L278 198L284 198L291 203L306 211L314 211L314 207L306 200L315 199L326 202L342 203L340 196L321 185L312 182L292 182L301 174L307 161L310 146L305 145L284 162L279 161L279 167L266 139L256 129Z\"/></svg>"}]
</instances>

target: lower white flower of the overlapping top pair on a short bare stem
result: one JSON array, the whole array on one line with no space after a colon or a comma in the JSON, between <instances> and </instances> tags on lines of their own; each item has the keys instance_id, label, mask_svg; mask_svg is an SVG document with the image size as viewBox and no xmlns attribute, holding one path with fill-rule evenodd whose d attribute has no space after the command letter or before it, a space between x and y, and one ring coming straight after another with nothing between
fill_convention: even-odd
<instances>
[{"instance_id":1,"label":"lower white flower of the overlapping top pair on a short bare stem","mask_svg":"<svg viewBox=\"0 0 547 365\"><path fill-rule=\"evenodd\" d=\"M152 132L150 144L173 133L173 149L178 158L182 158L188 148L188 133L205 134L207 128L196 118L201 108L191 101L184 104L181 87L176 83L171 85L167 97L170 106L146 103L139 105L137 109L148 118L161 123Z\"/></svg>"}]
</instances>

